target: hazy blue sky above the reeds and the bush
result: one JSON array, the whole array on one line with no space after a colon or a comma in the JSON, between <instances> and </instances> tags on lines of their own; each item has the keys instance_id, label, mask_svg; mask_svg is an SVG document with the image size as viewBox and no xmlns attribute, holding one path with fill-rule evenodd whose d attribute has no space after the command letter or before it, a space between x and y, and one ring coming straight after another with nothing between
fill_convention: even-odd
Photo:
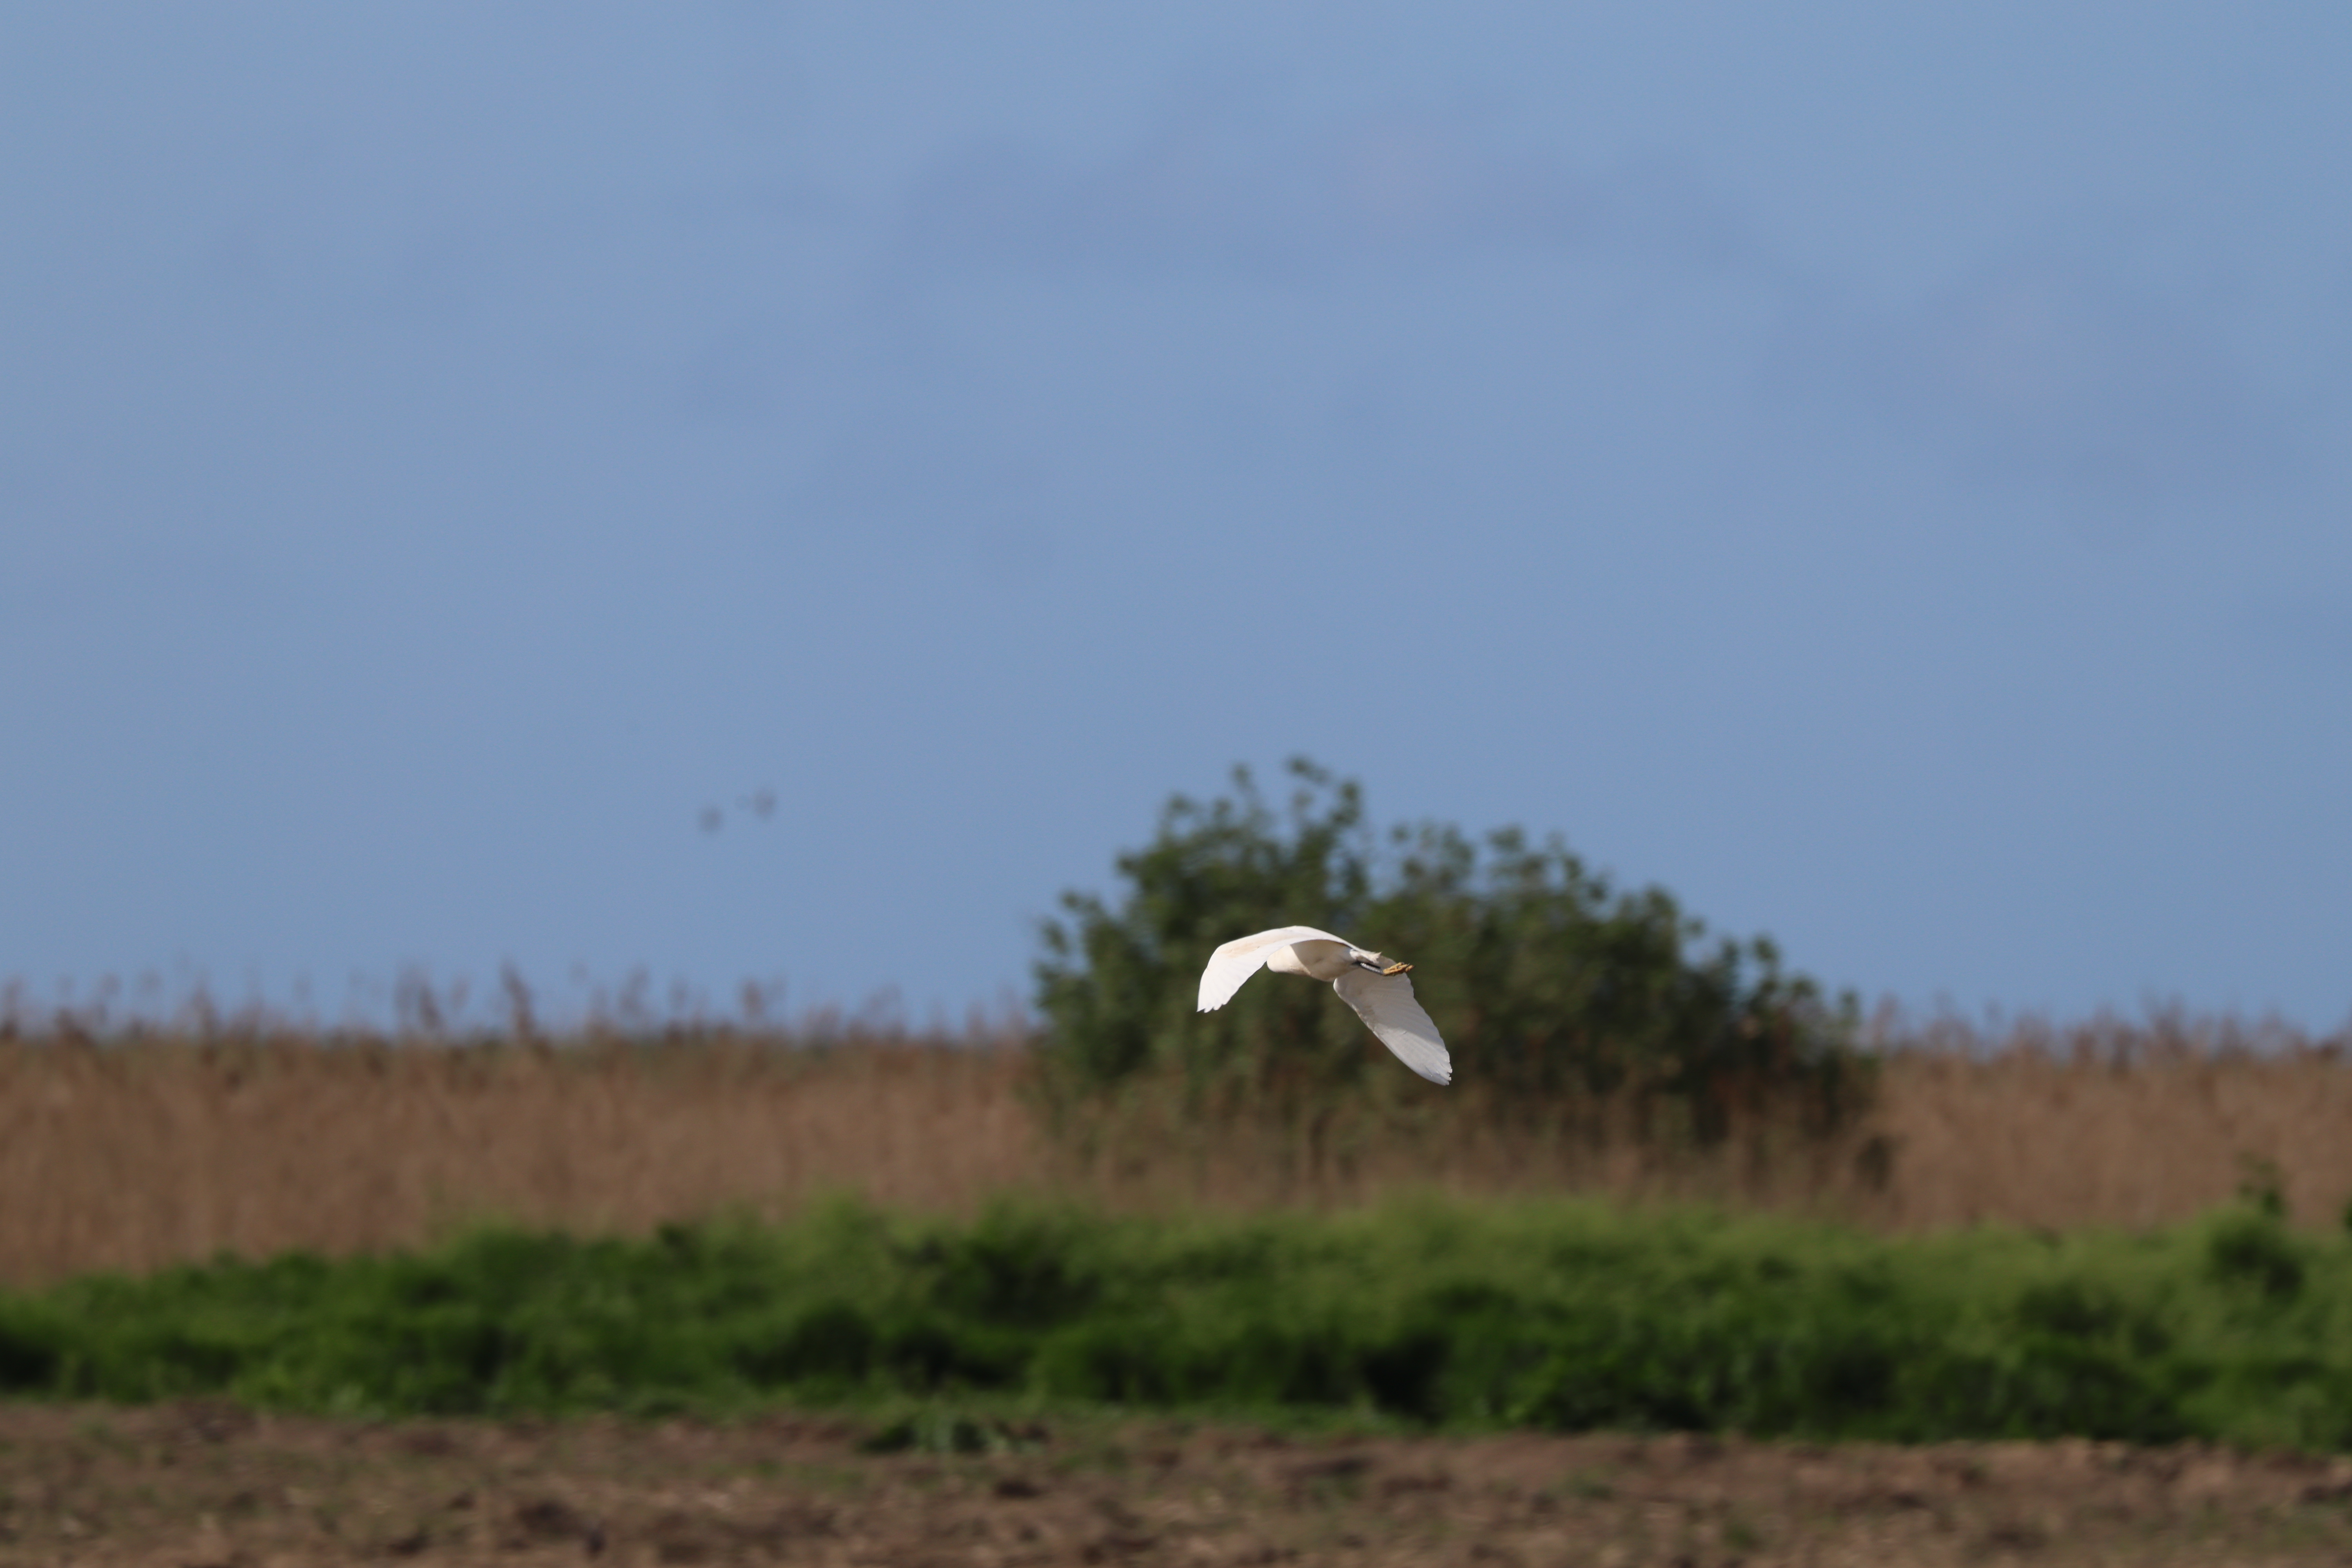
<instances>
[{"instance_id":1,"label":"hazy blue sky above the reeds and the bush","mask_svg":"<svg viewBox=\"0 0 2352 1568\"><path fill-rule=\"evenodd\" d=\"M960 1016L1308 752L1863 997L2333 1027L2347 78L2321 5L9 7L0 976Z\"/></svg>"}]
</instances>

